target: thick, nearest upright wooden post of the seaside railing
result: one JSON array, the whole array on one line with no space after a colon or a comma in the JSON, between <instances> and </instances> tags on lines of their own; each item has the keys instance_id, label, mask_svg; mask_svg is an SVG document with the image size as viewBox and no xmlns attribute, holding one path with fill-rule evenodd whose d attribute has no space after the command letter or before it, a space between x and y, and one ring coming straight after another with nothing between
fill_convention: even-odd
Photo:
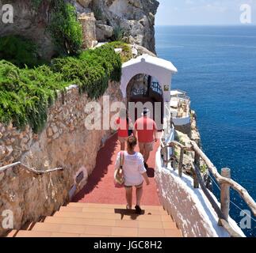
<instances>
[{"instance_id":1,"label":"thick, nearest upright wooden post of the seaside railing","mask_svg":"<svg viewBox=\"0 0 256 253\"><path fill-rule=\"evenodd\" d=\"M221 176L227 179L231 179L231 169L222 168ZM227 221L229 216L229 208L230 208L230 186L227 183L220 184L220 203L221 203L221 207L220 207L221 212L224 214L224 217Z\"/></svg>"}]
</instances>

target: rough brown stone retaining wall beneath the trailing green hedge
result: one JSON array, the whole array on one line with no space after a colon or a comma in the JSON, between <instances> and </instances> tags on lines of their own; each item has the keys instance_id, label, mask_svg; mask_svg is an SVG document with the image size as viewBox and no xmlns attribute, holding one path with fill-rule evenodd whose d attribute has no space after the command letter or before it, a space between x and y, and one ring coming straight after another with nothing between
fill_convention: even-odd
<instances>
[{"instance_id":1,"label":"rough brown stone retaining wall beneath the trailing green hedge","mask_svg":"<svg viewBox=\"0 0 256 253\"><path fill-rule=\"evenodd\" d=\"M109 82L105 96L109 96L110 103L122 100L119 86ZM21 228L28 221L37 221L59 210L86 184L95 167L97 151L112 134L111 130L86 129L88 102L86 94L81 95L74 85L65 95L59 94L41 134L33 134L29 126L17 130L11 124L1 124L0 166L21 161L37 170L63 171L39 176L15 167L0 172L0 236L6 232L2 228L4 211L10 210L14 228ZM103 97L97 102L103 108Z\"/></svg>"}]
</instances>

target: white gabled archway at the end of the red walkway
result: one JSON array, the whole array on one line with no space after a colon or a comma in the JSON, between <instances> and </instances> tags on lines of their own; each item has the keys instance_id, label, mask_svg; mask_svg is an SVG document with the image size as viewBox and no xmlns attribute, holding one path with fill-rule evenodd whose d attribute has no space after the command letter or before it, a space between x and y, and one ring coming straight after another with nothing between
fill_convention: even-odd
<instances>
[{"instance_id":1,"label":"white gabled archway at the end of the red walkway","mask_svg":"<svg viewBox=\"0 0 256 253\"><path fill-rule=\"evenodd\" d=\"M163 102L170 102L171 78L177 72L178 70L171 62L151 55L142 55L123 64L120 89L126 98L127 86L132 77L138 74L147 74L159 81Z\"/></svg>"}]
</instances>

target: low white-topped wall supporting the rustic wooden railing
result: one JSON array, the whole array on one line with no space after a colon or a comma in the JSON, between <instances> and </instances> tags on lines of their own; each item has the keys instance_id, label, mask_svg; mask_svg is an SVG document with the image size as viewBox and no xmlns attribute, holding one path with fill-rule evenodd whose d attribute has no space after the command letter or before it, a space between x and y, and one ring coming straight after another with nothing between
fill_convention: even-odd
<instances>
[{"instance_id":1,"label":"low white-topped wall supporting the rustic wooden railing","mask_svg":"<svg viewBox=\"0 0 256 253\"><path fill-rule=\"evenodd\" d=\"M229 237L218 226L218 217L201 189L193 188L193 179L178 176L172 168L164 168L160 149L156 154L155 182L162 206L174 218L185 237ZM212 197L216 197L212 194ZM216 200L217 201L217 200ZM244 236L242 230L231 220L230 224Z\"/></svg>"}]
</instances>

